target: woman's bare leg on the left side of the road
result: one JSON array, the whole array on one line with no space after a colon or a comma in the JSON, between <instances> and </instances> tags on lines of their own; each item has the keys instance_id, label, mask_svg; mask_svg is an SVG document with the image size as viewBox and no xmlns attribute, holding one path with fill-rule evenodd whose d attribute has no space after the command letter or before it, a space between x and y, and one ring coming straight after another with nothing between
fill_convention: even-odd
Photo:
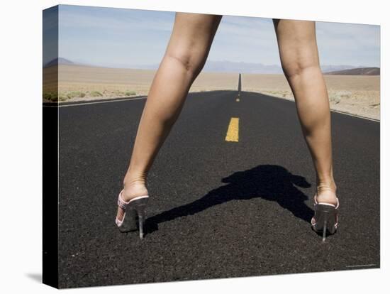
<instances>
[{"instance_id":1,"label":"woman's bare leg on the left side of the road","mask_svg":"<svg viewBox=\"0 0 390 294\"><path fill-rule=\"evenodd\" d=\"M145 195L147 172L204 67L222 16L176 13L171 38L147 95L127 173L123 198ZM123 210L118 207L118 219Z\"/></svg>"}]
</instances>

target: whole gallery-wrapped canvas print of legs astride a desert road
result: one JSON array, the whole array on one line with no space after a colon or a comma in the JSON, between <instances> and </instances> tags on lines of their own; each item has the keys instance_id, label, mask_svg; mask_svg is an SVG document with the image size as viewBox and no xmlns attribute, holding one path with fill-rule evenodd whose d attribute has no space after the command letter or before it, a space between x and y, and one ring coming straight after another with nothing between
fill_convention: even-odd
<instances>
[{"instance_id":1,"label":"whole gallery-wrapped canvas print of legs astride a desert road","mask_svg":"<svg viewBox=\"0 0 390 294\"><path fill-rule=\"evenodd\" d=\"M43 283L380 267L379 26L43 11Z\"/></svg>"}]
</instances>

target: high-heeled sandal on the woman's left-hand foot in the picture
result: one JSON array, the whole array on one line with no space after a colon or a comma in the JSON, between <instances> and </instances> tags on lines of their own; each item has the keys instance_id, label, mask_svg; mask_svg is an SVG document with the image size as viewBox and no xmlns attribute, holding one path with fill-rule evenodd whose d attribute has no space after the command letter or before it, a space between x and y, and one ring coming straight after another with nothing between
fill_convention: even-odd
<instances>
[{"instance_id":1,"label":"high-heeled sandal on the woman's left-hand foot in the picture","mask_svg":"<svg viewBox=\"0 0 390 294\"><path fill-rule=\"evenodd\" d=\"M116 217L115 222L118 226L118 229L121 232L130 232L135 231L137 229L136 218L138 216L138 229L140 232L140 239L143 239L143 225L145 222L145 207L147 205L147 200L149 199L149 195L143 195L134 197L133 199L126 202L122 198L123 190L118 195L118 207L123 209L123 218L122 220ZM126 218L126 209L130 209L130 215ZM125 222L126 219L126 222Z\"/></svg>"}]
</instances>

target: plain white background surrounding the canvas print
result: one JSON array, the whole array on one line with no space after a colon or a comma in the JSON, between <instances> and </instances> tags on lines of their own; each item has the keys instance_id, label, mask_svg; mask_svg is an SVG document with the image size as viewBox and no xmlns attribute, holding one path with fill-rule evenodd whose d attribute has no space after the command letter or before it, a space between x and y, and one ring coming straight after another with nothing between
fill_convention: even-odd
<instances>
[{"instance_id":1,"label":"plain white background surrounding the canvas print","mask_svg":"<svg viewBox=\"0 0 390 294\"><path fill-rule=\"evenodd\" d=\"M188 11L381 25L381 269L106 286L82 293L384 293L389 290L389 9L379 0L3 1L0 45L2 293L51 293L42 268L42 10L56 4ZM386 130L386 132L385 132ZM387 134L386 134L387 133ZM387 163L387 164L386 164ZM87 203L86 203L87 205ZM92 204L93 205L93 204ZM134 265L136 266L136 265ZM381 290L380 290L381 289Z\"/></svg>"}]
</instances>

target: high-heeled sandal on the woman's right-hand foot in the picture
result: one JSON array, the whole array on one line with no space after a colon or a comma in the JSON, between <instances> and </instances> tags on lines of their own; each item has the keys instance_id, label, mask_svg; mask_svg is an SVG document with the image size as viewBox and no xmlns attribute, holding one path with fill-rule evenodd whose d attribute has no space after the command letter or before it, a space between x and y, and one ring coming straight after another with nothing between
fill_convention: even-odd
<instances>
[{"instance_id":1,"label":"high-heeled sandal on the woman's right-hand foot in the picture","mask_svg":"<svg viewBox=\"0 0 390 294\"><path fill-rule=\"evenodd\" d=\"M335 234L338 229L338 207L325 202L317 202L316 195L314 195L314 216L311 219L311 227L317 233L323 234L323 241L326 239L326 232ZM337 201L338 198L336 197Z\"/></svg>"}]
</instances>

